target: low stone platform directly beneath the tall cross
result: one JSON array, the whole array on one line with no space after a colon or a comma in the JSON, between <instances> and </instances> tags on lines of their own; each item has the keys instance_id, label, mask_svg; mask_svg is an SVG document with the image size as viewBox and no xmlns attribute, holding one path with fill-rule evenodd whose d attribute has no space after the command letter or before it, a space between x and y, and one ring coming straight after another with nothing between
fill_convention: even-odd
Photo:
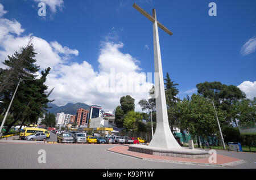
<instances>
[{"instance_id":1,"label":"low stone platform directly beneath the tall cross","mask_svg":"<svg viewBox=\"0 0 256 180\"><path fill-rule=\"evenodd\" d=\"M204 158L209 157L207 151L202 151L198 149L166 149L159 147L151 147L148 145L142 144L133 144L129 145L129 151L146 153L148 155L157 155L157 156L171 156L171 157L185 157L185 158Z\"/></svg>"}]
</instances>

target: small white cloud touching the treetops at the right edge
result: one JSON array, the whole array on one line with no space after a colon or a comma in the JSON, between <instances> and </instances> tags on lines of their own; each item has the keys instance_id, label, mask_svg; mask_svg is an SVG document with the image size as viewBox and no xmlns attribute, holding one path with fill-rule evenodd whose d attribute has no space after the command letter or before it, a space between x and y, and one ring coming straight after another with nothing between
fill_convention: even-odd
<instances>
[{"instance_id":1,"label":"small white cloud touching the treetops at the right edge","mask_svg":"<svg viewBox=\"0 0 256 180\"><path fill-rule=\"evenodd\" d=\"M246 98L250 98L252 100L254 97L256 97L256 81L250 82L246 80L237 87L240 88L241 91L245 92Z\"/></svg>"}]
</instances>

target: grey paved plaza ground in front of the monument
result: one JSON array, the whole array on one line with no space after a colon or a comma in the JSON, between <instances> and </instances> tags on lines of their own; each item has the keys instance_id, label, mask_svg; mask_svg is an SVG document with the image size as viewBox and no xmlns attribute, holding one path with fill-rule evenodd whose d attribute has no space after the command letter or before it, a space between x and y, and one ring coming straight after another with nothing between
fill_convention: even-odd
<instances>
[{"instance_id":1,"label":"grey paved plaza ground in front of the monument","mask_svg":"<svg viewBox=\"0 0 256 180\"><path fill-rule=\"evenodd\" d=\"M218 155L244 160L228 167L149 161L109 152L115 144L0 143L0 168L82 168L82 169L168 169L168 168L256 168L256 153L217 150ZM39 163L39 150L46 152L46 163Z\"/></svg>"}]
</instances>

